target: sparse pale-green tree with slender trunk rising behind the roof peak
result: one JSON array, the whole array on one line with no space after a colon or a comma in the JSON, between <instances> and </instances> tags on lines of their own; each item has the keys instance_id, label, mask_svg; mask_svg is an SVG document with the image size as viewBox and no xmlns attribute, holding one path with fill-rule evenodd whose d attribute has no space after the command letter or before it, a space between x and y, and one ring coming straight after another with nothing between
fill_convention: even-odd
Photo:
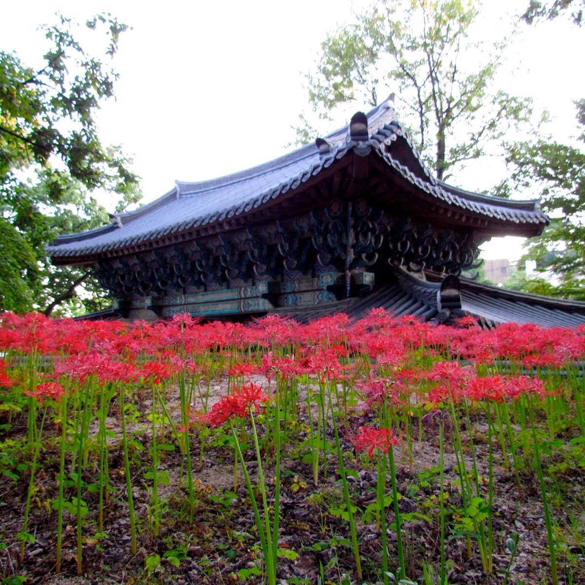
<instances>
[{"instance_id":1,"label":"sparse pale-green tree with slender trunk rising behind the roof peak","mask_svg":"<svg viewBox=\"0 0 585 585\"><path fill-rule=\"evenodd\" d=\"M486 53L470 39L478 16L464 0L380 2L321 44L309 101L329 110L349 101L376 105L381 85L398 92L411 137L436 176L448 178L530 113L527 99L491 87L506 43ZM463 55L473 69L464 68Z\"/></svg>"}]
</instances>

